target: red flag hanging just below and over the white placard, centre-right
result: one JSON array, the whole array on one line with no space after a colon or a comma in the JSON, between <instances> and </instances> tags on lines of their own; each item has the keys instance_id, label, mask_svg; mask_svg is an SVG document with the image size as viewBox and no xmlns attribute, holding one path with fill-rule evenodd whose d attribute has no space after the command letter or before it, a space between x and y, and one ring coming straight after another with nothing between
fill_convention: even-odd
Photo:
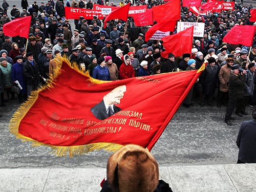
<instances>
[{"instance_id":1,"label":"red flag hanging just below and over the white placard, centre-right","mask_svg":"<svg viewBox=\"0 0 256 192\"><path fill-rule=\"evenodd\" d=\"M193 33L194 26L174 35L163 37L162 40L165 51L161 52L161 56L167 58L169 53L173 53L175 56L181 56L184 53L191 53Z\"/></svg>"}]
</instances>

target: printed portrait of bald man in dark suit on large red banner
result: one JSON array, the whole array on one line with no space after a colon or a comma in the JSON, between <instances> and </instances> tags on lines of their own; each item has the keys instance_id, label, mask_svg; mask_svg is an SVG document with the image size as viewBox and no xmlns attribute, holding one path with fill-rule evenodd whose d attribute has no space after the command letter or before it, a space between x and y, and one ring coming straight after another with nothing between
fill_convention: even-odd
<instances>
[{"instance_id":1,"label":"printed portrait of bald man in dark suit on large red banner","mask_svg":"<svg viewBox=\"0 0 256 192\"><path fill-rule=\"evenodd\" d=\"M121 111L115 104L120 104L124 92L126 92L126 86L119 86L106 94L103 100L91 109L93 115L97 119L103 120Z\"/></svg>"}]
</instances>

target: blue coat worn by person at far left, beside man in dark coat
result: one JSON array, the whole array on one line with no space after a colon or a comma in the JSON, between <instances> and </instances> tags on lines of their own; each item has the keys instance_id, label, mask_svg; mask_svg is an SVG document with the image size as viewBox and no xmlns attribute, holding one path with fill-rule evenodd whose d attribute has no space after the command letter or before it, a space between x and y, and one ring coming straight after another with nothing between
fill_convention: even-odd
<instances>
[{"instance_id":1,"label":"blue coat worn by person at far left, beside man in dark coat","mask_svg":"<svg viewBox=\"0 0 256 192\"><path fill-rule=\"evenodd\" d=\"M20 64L16 62L12 66L12 81L18 80L20 86L22 86L22 90L20 92L22 93L27 93L27 83L26 83L26 78L24 78L23 75L23 63Z\"/></svg>"}]
</instances>

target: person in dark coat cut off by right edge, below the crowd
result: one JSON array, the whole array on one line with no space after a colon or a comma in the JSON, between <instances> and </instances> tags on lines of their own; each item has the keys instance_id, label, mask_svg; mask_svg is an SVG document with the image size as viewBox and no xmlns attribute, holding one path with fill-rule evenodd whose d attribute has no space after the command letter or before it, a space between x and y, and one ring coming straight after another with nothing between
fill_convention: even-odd
<instances>
[{"instance_id":1,"label":"person in dark coat cut off by right edge, below the crowd","mask_svg":"<svg viewBox=\"0 0 256 192\"><path fill-rule=\"evenodd\" d=\"M238 132L238 163L256 163L256 109L252 117L253 120L242 122Z\"/></svg>"}]
</instances>

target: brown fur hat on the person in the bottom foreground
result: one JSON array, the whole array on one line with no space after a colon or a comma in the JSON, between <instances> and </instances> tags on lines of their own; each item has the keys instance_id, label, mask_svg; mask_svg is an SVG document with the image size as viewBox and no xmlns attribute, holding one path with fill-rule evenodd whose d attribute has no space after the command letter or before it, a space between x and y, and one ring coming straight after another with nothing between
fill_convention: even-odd
<instances>
[{"instance_id":1,"label":"brown fur hat on the person in the bottom foreground","mask_svg":"<svg viewBox=\"0 0 256 192\"><path fill-rule=\"evenodd\" d=\"M129 144L109 158L106 177L115 192L153 192L159 182L158 164L145 148Z\"/></svg>"}]
</instances>

